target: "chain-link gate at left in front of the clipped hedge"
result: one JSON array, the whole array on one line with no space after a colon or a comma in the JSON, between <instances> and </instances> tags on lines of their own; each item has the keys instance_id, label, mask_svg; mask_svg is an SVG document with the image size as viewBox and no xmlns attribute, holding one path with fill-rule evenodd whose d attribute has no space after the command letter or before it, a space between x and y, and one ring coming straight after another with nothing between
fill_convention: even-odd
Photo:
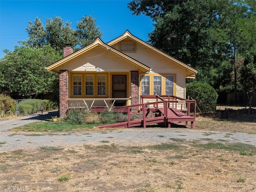
<instances>
[{"instance_id":1,"label":"chain-link gate at left in front of the clipped hedge","mask_svg":"<svg viewBox=\"0 0 256 192\"><path fill-rule=\"evenodd\" d=\"M43 114L43 103L41 99L18 99L16 100L17 115Z\"/></svg>"}]
</instances>

